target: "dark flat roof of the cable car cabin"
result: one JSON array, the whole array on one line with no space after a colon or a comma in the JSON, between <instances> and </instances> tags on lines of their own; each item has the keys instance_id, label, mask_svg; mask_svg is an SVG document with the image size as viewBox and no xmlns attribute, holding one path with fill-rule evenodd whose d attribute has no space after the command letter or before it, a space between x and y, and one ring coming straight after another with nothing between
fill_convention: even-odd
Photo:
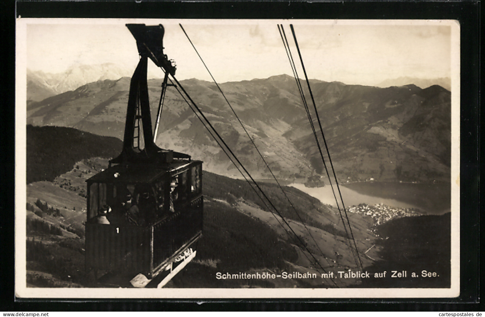
<instances>
[{"instance_id":1,"label":"dark flat roof of the cable car cabin","mask_svg":"<svg viewBox=\"0 0 485 317\"><path fill-rule=\"evenodd\" d=\"M166 164L115 165L90 177L86 182L98 183L151 183L163 174L176 174L178 170L190 165L201 164L202 161L174 161Z\"/></svg>"}]
</instances>

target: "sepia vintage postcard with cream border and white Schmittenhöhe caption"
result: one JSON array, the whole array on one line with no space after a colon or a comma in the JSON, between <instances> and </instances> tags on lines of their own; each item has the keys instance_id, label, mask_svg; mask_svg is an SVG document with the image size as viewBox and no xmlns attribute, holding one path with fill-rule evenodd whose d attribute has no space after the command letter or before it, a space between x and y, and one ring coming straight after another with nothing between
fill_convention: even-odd
<instances>
[{"instance_id":1,"label":"sepia vintage postcard with cream border and white Schmittenh\u00f6he caption","mask_svg":"<svg viewBox=\"0 0 485 317\"><path fill-rule=\"evenodd\" d=\"M453 20L18 18L16 296L453 298Z\"/></svg>"}]
</instances>

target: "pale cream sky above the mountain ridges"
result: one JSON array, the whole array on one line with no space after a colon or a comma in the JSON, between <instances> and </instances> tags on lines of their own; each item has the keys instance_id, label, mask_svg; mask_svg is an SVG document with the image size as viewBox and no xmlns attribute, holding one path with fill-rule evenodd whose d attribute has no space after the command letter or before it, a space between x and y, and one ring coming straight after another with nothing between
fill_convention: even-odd
<instances>
[{"instance_id":1,"label":"pale cream sky above the mountain ridges","mask_svg":"<svg viewBox=\"0 0 485 317\"><path fill-rule=\"evenodd\" d=\"M292 75L278 23L299 65L294 24L309 78L377 85L404 76L451 77L453 23L425 20L32 19L26 29L27 68L59 73L81 64L114 63L131 73L138 52L125 23L164 25L164 52L177 63L179 80L211 79L178 23L218 82ZM151 64L149 77L161 76Z\"/></svg>"}]
</instances>

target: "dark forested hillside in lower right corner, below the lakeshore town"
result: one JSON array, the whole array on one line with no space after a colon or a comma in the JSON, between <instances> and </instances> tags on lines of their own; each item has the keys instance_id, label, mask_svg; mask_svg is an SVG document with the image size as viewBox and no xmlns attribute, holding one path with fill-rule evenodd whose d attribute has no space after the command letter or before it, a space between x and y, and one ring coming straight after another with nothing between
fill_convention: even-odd
<instances>
[{"instance_id":1,"label":"dark forested hillside in lower right corner, below the lakeshore town","mask_svg":"<svg viewBox=\"0 0 485 317\"><path fill-rule=\"evenodd\" d=\"M410 276L400 283L388 276L384 279L364 281L364 287L450 287L451 277L451 213L394 219L377 227L383 237L378 244L383 246L379 256L369 271L393 269L407 271ZM436 272L436 277L423 277L422 270Z\"/></svg>"}]
</instances>

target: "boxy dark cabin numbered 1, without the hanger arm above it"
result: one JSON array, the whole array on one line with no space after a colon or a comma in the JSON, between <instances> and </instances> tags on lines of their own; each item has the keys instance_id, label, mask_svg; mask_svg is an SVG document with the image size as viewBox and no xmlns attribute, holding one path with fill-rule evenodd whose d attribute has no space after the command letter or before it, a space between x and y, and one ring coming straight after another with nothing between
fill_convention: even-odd
<instances>
[{"instance_id":1,"label":"boxy dark cabin numbered 1, without the hanger arm above it","mask_svg":"<svg viewBox=\"0 0 485 317\"><path fill-rule=\"evenodd\" d=\"M116 165L87 185L88 268L152 276L202 235L201 161Z\"/></svg>"}]
</instances>

